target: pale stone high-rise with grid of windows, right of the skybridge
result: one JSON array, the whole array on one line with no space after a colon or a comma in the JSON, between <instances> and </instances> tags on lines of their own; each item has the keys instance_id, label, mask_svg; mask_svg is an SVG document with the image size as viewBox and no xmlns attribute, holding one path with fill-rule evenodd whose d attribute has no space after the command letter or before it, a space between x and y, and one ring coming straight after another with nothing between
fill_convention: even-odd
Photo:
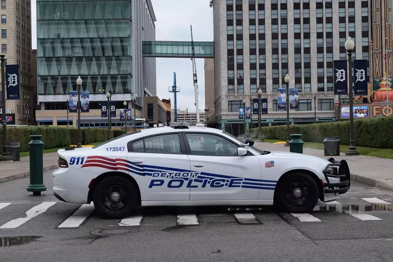
<instances>
[{"instance_id":1,"label":"pale stone high-rise with grid of windows, right of the skybridge","mask_svg":"<svg viewBox=\"0 0 393 262\"><path fill-rule=\"evenodd\" d=\"M238 135L239 106L250 98L268 99L262 125L286 123L277 108L277 89L299 91L294 124L335 121L333 61L345 60L347 36L355 41L354 59L369 59L370 0L212 0L215 42L215 116L209 122ZM355 4L356 2L356 4ZM382 59L382 58L381 58ZM338 102L338 101L337 101ZM341 104L348 104L341 96ZM315 106L314 106L315 105ZM314 117L316 115L316 117ZM250 127L250 120L247 126ZM257 115L253 114L253 126Z\"/></svg>"}]
</instances>

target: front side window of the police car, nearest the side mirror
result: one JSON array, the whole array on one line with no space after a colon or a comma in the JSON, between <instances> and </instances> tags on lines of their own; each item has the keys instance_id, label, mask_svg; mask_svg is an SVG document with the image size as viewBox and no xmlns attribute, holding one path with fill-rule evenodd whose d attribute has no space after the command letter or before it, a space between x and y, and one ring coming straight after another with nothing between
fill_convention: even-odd
<instances>
[{"instance_id":1,"label":"front side window of the police car, nearest the side mirror","mask_svg":"<svg viewBox=\"0 0 393 262\"><path fill-rule=\"evenodd\" d=\"M186 133L191 154L198 156L237 156L238 146L214 134Z\"/></svg>"}]
</instances>

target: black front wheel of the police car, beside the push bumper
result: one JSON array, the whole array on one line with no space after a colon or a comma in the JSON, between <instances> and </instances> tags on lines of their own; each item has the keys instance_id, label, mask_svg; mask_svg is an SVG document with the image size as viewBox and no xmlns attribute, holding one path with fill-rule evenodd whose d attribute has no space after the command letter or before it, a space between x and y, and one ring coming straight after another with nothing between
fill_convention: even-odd
<instances>
[{"instance_id":1,"label":"black front wheel of the police car, beside the push bumper","mask_svg":"<svg viewBox=\"0 0 393 262\"><path fill-rule=\"evenodd\" d=\"M274 204L284 212L308 213L318 203L318 184L305 173L287 175L276 190Z\"/></svg>"}]
</instances>

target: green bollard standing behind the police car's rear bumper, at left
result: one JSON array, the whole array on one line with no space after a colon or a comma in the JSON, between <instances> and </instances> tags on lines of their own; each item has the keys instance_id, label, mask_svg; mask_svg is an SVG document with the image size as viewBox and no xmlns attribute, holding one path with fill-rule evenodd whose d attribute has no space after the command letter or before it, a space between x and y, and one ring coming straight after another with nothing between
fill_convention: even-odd
<instances>
[{"instance_id":1,"label":"green bollard standing behind the police car's rear bumper, at left","mask_svg":"<svg viewBox=\"0 0 393 262\"><path fill-rule=\"evenodd\" d=\"M33 196L40 196L41 191L46 191L44 185L44 143L41 141L42 135L30 135L30 184L28 192L33 192Z\"/></svg>"}]
</instances>

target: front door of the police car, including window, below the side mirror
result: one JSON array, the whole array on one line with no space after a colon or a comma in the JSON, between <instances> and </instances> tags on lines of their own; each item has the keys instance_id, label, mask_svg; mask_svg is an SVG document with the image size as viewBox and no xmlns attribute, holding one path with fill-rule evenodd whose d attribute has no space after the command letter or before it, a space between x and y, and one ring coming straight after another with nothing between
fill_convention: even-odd
<instances>
[{"instance_id":1,"label":"front door of the police car, including window, below the side mirror","mask_svg":"<svg viewBox=\"0 0 393 262\"><path fill-rule=\"evenodd\" d=\"M219 134L184 132L183 137L194 174L190 200L258 200L256 156L238 156L240 146Z\"/></svg>"}]
</instances>

